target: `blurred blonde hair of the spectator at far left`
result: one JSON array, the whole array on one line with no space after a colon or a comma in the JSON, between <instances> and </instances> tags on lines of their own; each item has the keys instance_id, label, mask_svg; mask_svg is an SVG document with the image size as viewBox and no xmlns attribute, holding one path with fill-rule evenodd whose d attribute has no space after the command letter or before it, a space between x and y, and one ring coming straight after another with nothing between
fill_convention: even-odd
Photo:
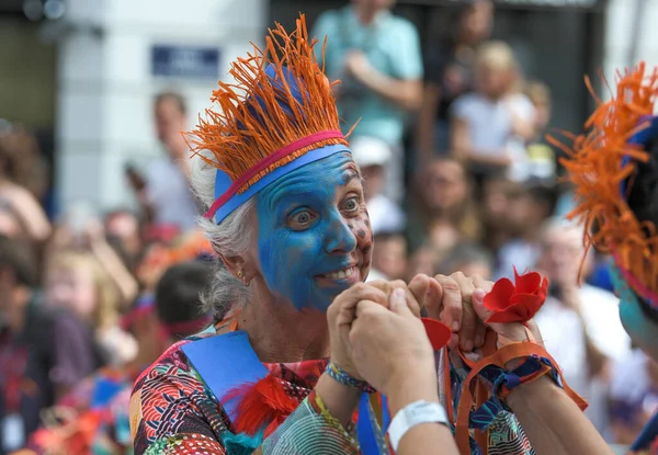
<instances>
[{"instance_id":1,"label":"blurred blonde hair of the spectator at far left","mask_svg":"<svg viewBox=\"0 0 658 455\"><path fill-rule=\"evenodd\" d=\"M58 252L48 261L46 270L90 271L97 297L97 305L92 312L93 327L107 329L118 322L121 302L118 289L92 253L84 251Z\"/></svg>"}]
</instances>

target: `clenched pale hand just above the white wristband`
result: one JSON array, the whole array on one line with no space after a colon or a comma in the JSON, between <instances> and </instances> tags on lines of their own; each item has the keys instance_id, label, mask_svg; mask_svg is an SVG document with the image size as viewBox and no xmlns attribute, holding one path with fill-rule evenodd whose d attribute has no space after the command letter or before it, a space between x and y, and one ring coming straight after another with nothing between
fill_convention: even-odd
<instances>
[{"instance_id":1,"label":"clenched pale hand just above the white wristband","mask_svg":"<svg viewBox=\"0 0 658 455\"><path fill-rule=\"evenodd\" d=\"M386 396L413 384L436 389L434 352L424 326L409 307L399 287L390 294L388 308L361 300L349 332L352 362L360 377Z\"/></svg>"}]
</instances>

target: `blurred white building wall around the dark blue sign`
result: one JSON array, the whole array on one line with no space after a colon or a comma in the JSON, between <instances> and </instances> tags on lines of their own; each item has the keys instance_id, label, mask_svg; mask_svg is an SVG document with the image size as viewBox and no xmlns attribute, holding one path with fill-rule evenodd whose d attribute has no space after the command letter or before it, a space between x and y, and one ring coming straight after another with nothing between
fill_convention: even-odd
<instances>
[{"instance_id":1,"label":"blurred white building wall around the dark blue sign","mask_svg":"<svg viewBox=\"0 0 658 455\"><path fill-rule=\"evenodd\" d=\"M190 126L209 106L228 64L262 43L265 0L68 0L70 32L59 43L58 202L83 198L99 211L134 203L124 167L163 153L155 137L152 99L188 98ZM95 29L94 29L95 27ZM151 76L151 46L216 47L215 80Z\"/></svg>"}]
</instances>

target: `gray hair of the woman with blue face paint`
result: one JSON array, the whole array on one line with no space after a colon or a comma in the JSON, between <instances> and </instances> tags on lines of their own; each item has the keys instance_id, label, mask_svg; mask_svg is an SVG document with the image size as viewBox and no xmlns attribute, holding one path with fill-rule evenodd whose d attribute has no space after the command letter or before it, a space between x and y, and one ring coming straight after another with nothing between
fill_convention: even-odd
<instances>
[{"instance_id":1,"label":"gray hair of the woman with blue face paint","mask_svg":"<svg viewBox=\"0 0 658 455\"><path fill-rule=\"evenodd\" d=\"M208 151L203 151L201 155L215 159ZM192 189L205 212L215 202L217 169L200 156L192 159L191 168ZM204 217L200 219L200 226L205 230L217 253L229 258L247 252L253 236L253 228L249 224L253 207L253 198L250 198L218 225L212 219ZM216 261L213 275L211 285L201 296L201 303L204 311L211 311L217 320L220 320L230 310L246 305L251 298L251 292L226 269L220 259Z\"/></svg>"}]
</instances>

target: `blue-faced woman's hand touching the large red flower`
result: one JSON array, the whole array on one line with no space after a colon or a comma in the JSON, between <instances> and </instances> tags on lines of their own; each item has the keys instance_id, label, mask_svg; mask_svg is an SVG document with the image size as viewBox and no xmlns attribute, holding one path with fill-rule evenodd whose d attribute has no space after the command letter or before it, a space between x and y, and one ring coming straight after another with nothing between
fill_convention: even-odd
<instances>
[{"instance_id":1,"label":"blue-faced woman's hand touching the large red flower","mask_svg":"<svg viewBox=\"0 0 658 455\"><path fill-rule=\"evenodd\" d=\"M453 335L447 346L455 349L457 345L464 352L485 344L486 326L473 309L473 293L481 289L485 294L491 291L494 283L481 276L465 276L462 272L450 276L436 275L438 292L427 299L428 316L440 320L450 327Z\"/></svg>"}]
</instances>

